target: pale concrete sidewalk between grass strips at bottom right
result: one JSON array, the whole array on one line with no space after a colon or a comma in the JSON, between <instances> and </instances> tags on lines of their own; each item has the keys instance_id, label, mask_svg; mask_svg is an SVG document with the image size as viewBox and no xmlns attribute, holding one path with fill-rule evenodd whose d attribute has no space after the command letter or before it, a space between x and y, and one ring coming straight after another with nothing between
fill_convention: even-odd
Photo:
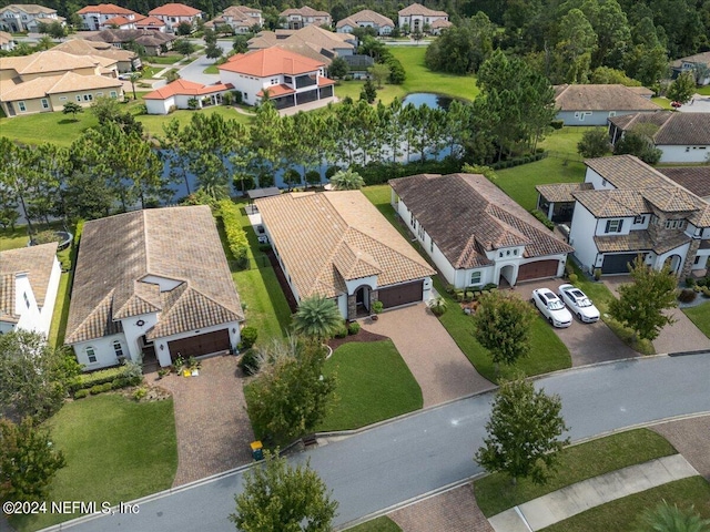
<instances>
[{"instance_id":1,"label":"pale concrete sidewalk between grass strips at bottom right","mask_svg":"<svg viewBox=\"0 0 710 532\"><path fill-rule=\"evenodd\" d=\"M577 482L506 510L488 521L496 532L541 530L590 508L697 474L682 454L672 454Z\"/></svg>"}]
</instances>

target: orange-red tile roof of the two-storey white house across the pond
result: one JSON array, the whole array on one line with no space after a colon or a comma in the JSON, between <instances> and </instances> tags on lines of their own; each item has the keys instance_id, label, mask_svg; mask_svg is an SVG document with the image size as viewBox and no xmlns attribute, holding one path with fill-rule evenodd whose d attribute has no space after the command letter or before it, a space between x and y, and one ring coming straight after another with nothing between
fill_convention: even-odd
<instances>
[{"instance_id":1,"label":"orange-red tile roof of the two-storey white house across the pond","mask_svg":"<svg viewBox=\"0 0 710 532\"><path fill-rule=\"evenodd\" d=\"M226 63L220 64L219 70L266 78L277 74L305 74L324 66L325 63L308 59L278 47L255 50L232 57Z\"/></svg>"}]
</instances>

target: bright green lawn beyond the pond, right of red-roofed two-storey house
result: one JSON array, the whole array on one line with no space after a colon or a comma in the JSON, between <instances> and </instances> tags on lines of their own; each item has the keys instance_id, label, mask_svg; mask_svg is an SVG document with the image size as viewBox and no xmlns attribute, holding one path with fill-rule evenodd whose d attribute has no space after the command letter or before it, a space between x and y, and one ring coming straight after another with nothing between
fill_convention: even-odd
<instances>
[{"instance_id":1,"label":"bright green lawn beyond the pond, right of red-roofed two-storey house","mask_svg":"<svg viewBox=\"0 0 710 532\"><path fill-rule=\"evenodd\" d=\"M397 58L407 73L402 85L384 85L377 90L377 98L383 103L389 103L397 98L404 98L412 92L436 92L449 96L474 100L478 95L478 88L473 75L453 75L430 71L424 64L426 47L390 47L392 54ZM344 81L336 85L338 98L351 96L359 99L364 81Z\"/></svg>"}]
</instances>

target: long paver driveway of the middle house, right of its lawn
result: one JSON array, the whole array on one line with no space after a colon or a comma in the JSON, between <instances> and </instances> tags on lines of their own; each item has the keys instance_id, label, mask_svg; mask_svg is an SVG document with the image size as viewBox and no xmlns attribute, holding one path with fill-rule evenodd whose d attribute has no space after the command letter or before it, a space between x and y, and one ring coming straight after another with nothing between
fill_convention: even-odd
<instances>
[{"instance_id":1,"label":"long paver driveway of the middle house, right of its lawn","mask_svg":"<svg viewBox=\"0 0 710 532\"><path fill-rule=\"evenodd\" d=\"M495 388L424 303L383 313L377 321L366 318L363 327L392 338L422 388L424 408Z\"/></svg>"}]
</instances>

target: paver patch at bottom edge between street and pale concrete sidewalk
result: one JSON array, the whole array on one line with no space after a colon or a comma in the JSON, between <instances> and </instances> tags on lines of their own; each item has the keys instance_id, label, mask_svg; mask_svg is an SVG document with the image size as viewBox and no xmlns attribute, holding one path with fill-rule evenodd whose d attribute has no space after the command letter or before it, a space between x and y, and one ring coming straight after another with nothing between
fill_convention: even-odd
<instances>
[{"instance_id":1,"label":"paver patch at bottom edge between street and pale concrete sidewalk","mask_svg":"<svg viewBox=\"0 0 710 532\"><path fill-rule=\"evenodd\" d=\"M471 484L410 504L388 515L403 532L493 532Z\"/></svg>"}]
</instances>

